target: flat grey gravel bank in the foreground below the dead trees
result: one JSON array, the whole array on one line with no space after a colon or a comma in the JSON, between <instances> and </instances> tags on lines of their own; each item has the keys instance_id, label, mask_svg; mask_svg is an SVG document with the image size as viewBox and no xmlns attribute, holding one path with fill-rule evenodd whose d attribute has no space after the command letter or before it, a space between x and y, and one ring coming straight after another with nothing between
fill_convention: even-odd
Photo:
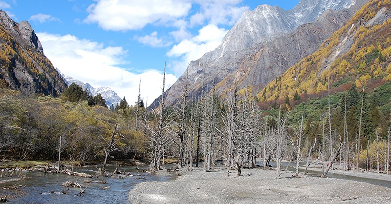
<instances>
[{"instance_id":1,"label":"flat grey gravel bank in the foreground below the dead trees","mask_svg":"<svg viewBox=\"0 0 391 204\"><path fill-rule=\"evenodd\" d=\"M227 177L226 169L213 172L182 172L173 182L137 184L129 193L132 204L148 203L389 203L391 189L333 178L291 177L286 172L243 169Z\"/></svg>"}]
</instances>

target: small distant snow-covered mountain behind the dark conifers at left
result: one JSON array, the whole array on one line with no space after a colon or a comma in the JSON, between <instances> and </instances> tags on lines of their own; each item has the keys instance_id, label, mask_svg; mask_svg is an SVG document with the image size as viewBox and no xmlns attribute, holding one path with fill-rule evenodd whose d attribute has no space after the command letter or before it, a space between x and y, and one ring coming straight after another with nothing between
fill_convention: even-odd
<instances>
[{"instance_id":1,"label":"small distant snow-covered mountain behind the dark conifers at left","mask_svg":"<svg viewBox=\"0 0 391 204\"><path fill-rule=\"evenodd\" d=\"M72 83L76 83L77 85L83 87L83 89L87 89L88 93L91 96L96 96L98 94L101 94L102 98L106 100L106 104L110 107L112 105L116 105L121 101L121 98L115 93L111 88L107 86L102 86L98 88L92 87L89 83L84 83L79 80L73 79L72 77L65 76L62 74L64 81L67 85L70 85Z\"/></svg>"}]
</instances>

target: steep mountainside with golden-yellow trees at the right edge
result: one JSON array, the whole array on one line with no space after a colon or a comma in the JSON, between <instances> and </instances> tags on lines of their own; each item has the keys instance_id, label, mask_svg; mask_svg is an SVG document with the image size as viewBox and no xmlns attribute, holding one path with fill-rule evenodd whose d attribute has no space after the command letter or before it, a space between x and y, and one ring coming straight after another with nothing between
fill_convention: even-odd
<instances>
[{"instance_id":1,"label":"steep mountainside with golden-yellow trees at the right edge","mask_svg":"<svg viewBox=\"0 0 391 204\"><path fill-rule=\"evenodd\" d=\"M391 80L391 4L370 0L321 48L290 67L259 94L261 101L292 99L355 83Z\"/></svg>"}]
</instances>

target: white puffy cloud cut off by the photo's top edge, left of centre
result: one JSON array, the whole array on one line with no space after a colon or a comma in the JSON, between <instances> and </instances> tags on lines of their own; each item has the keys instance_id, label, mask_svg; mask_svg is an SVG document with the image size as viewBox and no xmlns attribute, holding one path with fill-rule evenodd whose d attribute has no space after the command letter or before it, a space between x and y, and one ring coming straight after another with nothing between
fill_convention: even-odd
<instances>
[{"instance_id":1,"label":"white puffy cloud cut off by the photo's top edge, left of centre","mask_svg":"<svg viewBox=\"0 0 391 204\"><path fill-rule=\"evenodd\" d=\"M187 0L98 0L88 7L84 20L105 30L137 30L154 22L171 22L187 16Z\"/></svg>"}]
</instances>

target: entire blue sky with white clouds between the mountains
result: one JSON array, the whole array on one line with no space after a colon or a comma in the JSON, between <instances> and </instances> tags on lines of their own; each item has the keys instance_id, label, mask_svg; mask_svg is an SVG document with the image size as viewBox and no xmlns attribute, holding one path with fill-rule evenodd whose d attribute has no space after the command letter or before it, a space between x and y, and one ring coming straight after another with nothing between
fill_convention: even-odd
<instances>
[{"instance_id":1,"label":"entire blue sky with white clouds between the mountains","mask_svg":"<svg viewBox=\"0 0 391 204\"><path fill-rule=\"evenodd\" d=\"M244 11L291 9L299 0L0 0L28 20L62 73L109 86L130 104L138 82L146 102L161 94L164 63L172 85L190 61L215 49ZM168 87L166 87L168 88Z\"/></svg>"}]
</instances>

